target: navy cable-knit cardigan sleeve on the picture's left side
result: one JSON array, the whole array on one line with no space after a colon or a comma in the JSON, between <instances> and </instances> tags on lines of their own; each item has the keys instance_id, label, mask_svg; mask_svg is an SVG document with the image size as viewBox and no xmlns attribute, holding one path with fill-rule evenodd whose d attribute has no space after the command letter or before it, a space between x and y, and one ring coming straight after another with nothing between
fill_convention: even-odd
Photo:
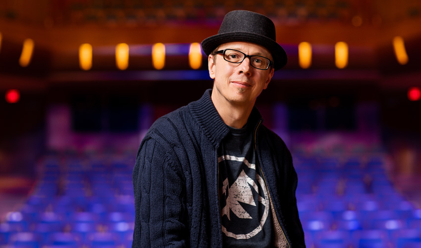
<instances>
[{"instance_id":1,"label":"navy cable-knit cardigan sleeve on the picture's left side","mask_svg":"<svg viewBox=\"0 0 421 248\"><path fill-rule=\"evenodd\" d=\"M153 138L139 147L133 169L133 248L186 246L185 186L168 147Z\"/></svg>"}]
</instances>

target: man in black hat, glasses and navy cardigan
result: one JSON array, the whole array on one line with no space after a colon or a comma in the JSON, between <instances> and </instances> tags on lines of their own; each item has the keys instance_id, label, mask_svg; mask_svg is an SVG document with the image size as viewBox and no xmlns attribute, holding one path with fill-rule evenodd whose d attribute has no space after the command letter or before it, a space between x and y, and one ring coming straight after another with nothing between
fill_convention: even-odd
<instances>
[{"instance_id":1,"label":"man in black hat, glasses and navy cardigan","mask_svg":"<svg viewBox=\"0 0 421 248\"><path fill-rule=\"evenodd\" d=\"M212 90L140 145L133 247L305 247L291 154L254 107L287 61L273 22L229 12L202 48Z\"/></svg>"}]
</instances>

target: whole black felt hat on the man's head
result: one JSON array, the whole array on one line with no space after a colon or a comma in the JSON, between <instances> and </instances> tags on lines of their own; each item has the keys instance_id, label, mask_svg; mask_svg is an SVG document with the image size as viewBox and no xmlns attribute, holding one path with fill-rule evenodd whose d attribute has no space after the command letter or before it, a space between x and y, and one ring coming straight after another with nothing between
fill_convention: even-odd
<instances>
[{"instance_id":1,"label":"whole black felt hat on the man's head","mask_svg":"<svg viewBox=\"0 0 421 248\"><path fill-rule=\"evenodd\" d=\"M209 56L219 45L233 41L251 42L269 50L275 70L287 62L285 50L276 42L275 25L263 14L247 10L228 12L218 34L202 41L202 49Z\"/></svg>"}]
</instances>

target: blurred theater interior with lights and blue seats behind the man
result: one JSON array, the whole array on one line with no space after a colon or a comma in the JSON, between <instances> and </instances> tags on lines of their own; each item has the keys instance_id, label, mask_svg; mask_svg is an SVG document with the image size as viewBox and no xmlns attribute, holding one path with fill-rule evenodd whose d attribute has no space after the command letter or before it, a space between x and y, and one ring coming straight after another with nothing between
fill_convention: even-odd
<instances>
[{"instance_id":1,"label":"blurred theater interior with lights and blue seats behind the man","mask_svg":"<svg viewBox=\"0 0 421 248\"><path fill-rule=\"evenodd\" d=\"M421 247L419 0L1 0L0 247L131 247L140 141L211 88L198 43L234 9L288 54L257 106L307 246Z\"/></svg>"}]
</instances>

